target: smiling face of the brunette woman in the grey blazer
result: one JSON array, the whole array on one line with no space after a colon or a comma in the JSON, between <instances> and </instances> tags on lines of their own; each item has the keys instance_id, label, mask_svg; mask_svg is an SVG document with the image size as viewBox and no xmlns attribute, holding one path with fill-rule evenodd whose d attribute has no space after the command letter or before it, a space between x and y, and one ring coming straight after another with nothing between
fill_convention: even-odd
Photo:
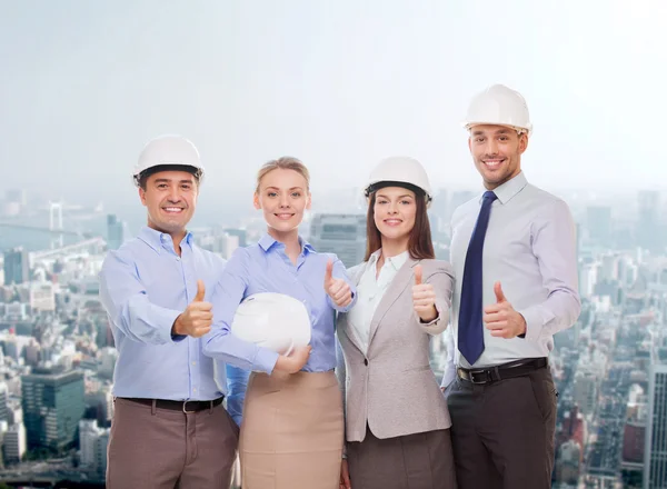
<instances>
[{"instance_id":1,"label":"smiling face of the brunette woman in the grey blazer","mask_svg":"<svg viewBox=\"0 0 667 489\"><path fill-rule=\"evenodd\" d=\"M386 240L405 242L407 249L417 214L415 199L415 192L402 187L385 187L376 192L374 221L384 243Z\"/></svg>"}]
</instances>

